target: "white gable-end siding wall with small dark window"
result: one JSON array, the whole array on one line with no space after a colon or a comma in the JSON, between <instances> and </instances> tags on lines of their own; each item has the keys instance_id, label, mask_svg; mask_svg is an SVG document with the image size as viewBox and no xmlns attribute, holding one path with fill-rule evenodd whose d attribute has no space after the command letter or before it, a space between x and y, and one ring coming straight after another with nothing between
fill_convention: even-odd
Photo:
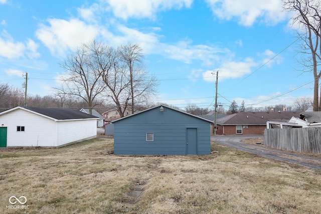
<instances>
[{"instance_id":1,"label":"white gable-end siding wall with small dark window","mask_svg":"<svg viewBox=\"0 0 321 214\"><path fill-rule=\"evenodd\" d=\"M8 127L7 146L57 146L56 122L49 118L22 110L1 115L0 124ZM17 131L25 126L25 131Z\"/></svg>"}]
</instances>

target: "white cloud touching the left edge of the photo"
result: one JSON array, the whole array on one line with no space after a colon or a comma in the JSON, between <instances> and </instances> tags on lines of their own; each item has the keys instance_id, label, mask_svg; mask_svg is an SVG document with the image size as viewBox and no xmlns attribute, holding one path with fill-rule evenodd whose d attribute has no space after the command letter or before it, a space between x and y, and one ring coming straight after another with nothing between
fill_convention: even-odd
<instances>
[{"instance_id":1,"label":"white cloud touching the left edge of the photo","mask_svg":"<svg viewBox=\"0 0 321 214\"><path fill-rule=\"evenodd\" d=\"M6 31L0 35L0 57L8 59L17 59L24 57L25 54L29 58L38 57L38 46L34 41L29 39L26 44L23 42L15 42L14 39Z\"/></svg>"}]
</instances>

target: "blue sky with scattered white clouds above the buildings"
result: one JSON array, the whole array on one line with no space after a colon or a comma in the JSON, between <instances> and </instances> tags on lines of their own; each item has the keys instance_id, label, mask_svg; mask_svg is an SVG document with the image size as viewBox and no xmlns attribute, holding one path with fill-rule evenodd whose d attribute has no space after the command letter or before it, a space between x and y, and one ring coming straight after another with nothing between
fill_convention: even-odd
<instances>
[{"instance_id":1,"label":"blue sky with scattered white clouds above the buildings","mask_svg":"<svg viewBox=\"0 0 321 214\"><path fill-rule=\"evenodd\" d=\"M0 83L49 95L59 66L92 39L140 44L159 81L154 102L184 108L218 102L292 105L313 96L313 74L297 63L298 43L280 0L0 0Z\"/></svg>"}]
</instances>

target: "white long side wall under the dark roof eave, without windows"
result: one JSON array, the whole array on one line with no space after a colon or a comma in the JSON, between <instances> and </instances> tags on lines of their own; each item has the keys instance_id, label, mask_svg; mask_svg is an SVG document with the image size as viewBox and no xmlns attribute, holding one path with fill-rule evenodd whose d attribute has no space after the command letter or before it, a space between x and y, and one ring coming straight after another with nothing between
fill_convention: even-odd
<instances>
[{"instance_id":1,"label":"white long side wall under the dark roof eave, without windows","mask_svg":"<svg viewBox=\"0 0 321 214\"><path fill-rule=\"evenodd\" d=\"M57 146L94 137L96 135L96 119L57 122Z\"/></svg>"}]
</instances>

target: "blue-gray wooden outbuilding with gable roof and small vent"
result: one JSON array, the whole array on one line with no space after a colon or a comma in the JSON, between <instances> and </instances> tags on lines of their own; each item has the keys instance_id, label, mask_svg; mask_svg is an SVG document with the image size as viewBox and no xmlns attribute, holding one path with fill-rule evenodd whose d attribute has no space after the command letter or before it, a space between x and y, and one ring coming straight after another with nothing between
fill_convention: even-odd
<instances>
[{"instance_id":1,"label":"blue-gray wooden outbuilding with gable roof and small vent","mask_svg":"<svg viewBox=\"0 0 321 214\"><path fill-rule=\"evenodd\" d=\"M213 121L158 105L114 124L114 154L186 155L211 153Z\"/></svg>"}]
</instances>

